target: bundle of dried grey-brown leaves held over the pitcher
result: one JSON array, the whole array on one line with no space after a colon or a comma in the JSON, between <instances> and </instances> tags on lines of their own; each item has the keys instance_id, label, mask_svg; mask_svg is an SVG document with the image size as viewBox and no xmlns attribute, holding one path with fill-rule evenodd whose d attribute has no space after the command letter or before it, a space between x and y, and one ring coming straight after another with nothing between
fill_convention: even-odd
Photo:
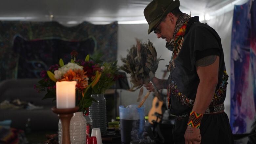
<instances>
[{"instance_id":1,"label":"bundle of dried grey-brown leaves held over the pitcher","mask_svg":"<svg viewBox=\"0 0 256 144\"><path fill-rule=\"evenodd\" d=\"M146 43L141 43L137 39L137 45L128 50L126 58L121 59L124 63L121 70L131 74L131 83L133 87L130 91L139 91L138 100L143 94L143 84L148 84L155 77L160 58L157 58L157 51L153 43L148 40ZM150 93L147 93L142 104Z\"/></svg>"}]
</instances>

